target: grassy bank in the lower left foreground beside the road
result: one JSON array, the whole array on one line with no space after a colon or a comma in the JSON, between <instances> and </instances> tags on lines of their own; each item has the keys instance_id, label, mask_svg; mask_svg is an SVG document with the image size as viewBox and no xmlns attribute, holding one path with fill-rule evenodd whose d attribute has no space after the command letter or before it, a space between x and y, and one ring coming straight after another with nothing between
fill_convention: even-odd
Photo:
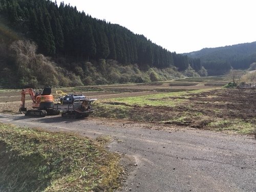
<instances>
[{"instance_id":1,"label":"grassy bank in the lower left foreground beside the road","mask_svg":"<svg viewBox=\"0 0 256 192\"><path fill-rule=\"evenodd\" d=\"M0 123L0 191L113 191L121 186L119 155L75 133Z\"/></svg>"}]
</instances>

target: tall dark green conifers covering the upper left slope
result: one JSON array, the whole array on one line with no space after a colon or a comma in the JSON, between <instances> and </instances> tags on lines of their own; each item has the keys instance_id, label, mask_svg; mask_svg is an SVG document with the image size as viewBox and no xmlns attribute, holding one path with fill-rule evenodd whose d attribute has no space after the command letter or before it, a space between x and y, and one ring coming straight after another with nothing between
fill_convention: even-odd
<instances>
[{"instance_id":1,"label":"tall dark green conifers covering the upper left slope","mask_svg":"<svg viewBox=\"0 0 256 192\"><path fill-rule=\"evenodd\" d=\"M0 0L0 13L12 27L36 42L38 51L75 61L113 59L141 70L189 67L201 70L200 59L170 52L143 35L92 18L76 7L50 0ZM191 63L189 63L191 62Z\"/></svg>"}]
</instances>

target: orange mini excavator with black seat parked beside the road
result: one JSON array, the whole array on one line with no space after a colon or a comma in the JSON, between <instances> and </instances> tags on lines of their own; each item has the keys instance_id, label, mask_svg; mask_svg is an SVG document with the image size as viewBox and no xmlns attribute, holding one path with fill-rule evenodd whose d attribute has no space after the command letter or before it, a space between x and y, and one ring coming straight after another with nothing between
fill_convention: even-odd
<instances>
[{"instance_id":1,"label":"orange mini excavator with black seat parked beside the road","mask_svg":"<svg viewBox=\"0 0 256 192\"><path fill-rule=\"evenodd\" d=\"M35 92L32 88L22 90L22 105L19 108L20 113L25 113L28 116L45 117L46 115L58 115L59 111L53 110L53 96L51 88ZM32 99L33 110L27 110L25 107L26 94L29 94Z\"/></svg>"}]
</instances>

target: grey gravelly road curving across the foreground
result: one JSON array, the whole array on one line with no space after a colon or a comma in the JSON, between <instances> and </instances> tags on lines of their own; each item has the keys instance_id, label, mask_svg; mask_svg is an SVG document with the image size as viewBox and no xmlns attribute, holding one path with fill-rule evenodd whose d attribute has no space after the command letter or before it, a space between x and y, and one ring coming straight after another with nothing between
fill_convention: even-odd
<instances>
[{"instance_id":1,"label":"grey gravelly road curving across the foreground","mask_svg":"<svg viewBox=\"0 0 256 192\"><path fill-rule=\"evenodd\" d=\"M177 126L88 117L63 119L0 114L0 122L111 136L128 177L122 191L256 191L256 140Z\"/></svg>"}]
</instances>

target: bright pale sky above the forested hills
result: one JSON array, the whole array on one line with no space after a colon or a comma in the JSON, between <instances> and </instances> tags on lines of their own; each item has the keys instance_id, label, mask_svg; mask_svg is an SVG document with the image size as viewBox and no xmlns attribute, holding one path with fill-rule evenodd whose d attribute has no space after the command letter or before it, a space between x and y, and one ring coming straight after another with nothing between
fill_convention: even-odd
<instances>
[{"instance_id":1,"label":"bright pale sky above the forested hills","mask_svg":"<svg viewBox=\"0 0 256 192\"><path fill-rule=\"evenodd\" d=\"M52 0L55 2L55 0ZM256 41L255 0L57 0L177 53Z\"/></svg>"}]
</instances>

